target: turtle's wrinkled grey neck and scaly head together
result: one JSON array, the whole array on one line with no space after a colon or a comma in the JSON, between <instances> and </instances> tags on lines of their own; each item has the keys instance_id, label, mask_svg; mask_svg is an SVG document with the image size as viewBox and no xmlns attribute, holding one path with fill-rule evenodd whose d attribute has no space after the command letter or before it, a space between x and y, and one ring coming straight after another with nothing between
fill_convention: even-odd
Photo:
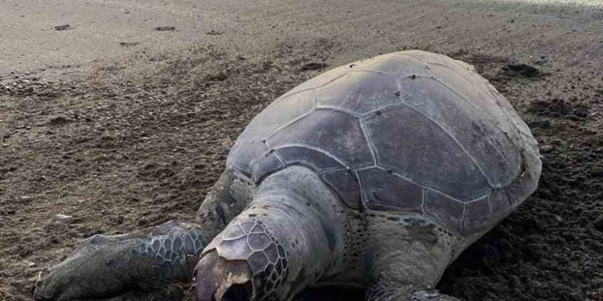
<instances>
[{"instance_id":1,"label":"turtle's wrinkled grey neck and scaly head together","mask_svg":"<svg viewBox=\"0 0 603 301\"><path fill-rule=\"evenodd\" d=\"M254 200L201 252L195 301L290 300L339 273L339 201L307 168L264 179Z\"/></svg>"}]
</instances>

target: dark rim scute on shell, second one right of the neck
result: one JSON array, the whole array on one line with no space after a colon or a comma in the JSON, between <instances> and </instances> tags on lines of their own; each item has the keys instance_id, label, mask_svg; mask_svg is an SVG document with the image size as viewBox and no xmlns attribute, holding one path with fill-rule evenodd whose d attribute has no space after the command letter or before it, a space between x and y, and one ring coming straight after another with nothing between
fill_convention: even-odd
<instances>
[{"instance_id":1,"label":"dark rim scute on shell, second one right of the neck","mask_svg":"<svg viewBox=\"0 0 603 301\"><path fill-rule=\"evenodd\" d=\"M423 187L380 168L358 171L367 208L421 213Z\"/></svg>"}]
</instances>

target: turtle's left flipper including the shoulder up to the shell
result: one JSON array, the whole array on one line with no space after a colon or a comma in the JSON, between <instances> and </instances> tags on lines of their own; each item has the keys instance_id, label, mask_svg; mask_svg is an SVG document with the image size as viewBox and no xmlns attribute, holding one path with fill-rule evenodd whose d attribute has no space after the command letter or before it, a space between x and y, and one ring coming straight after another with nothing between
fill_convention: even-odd
<instances>
[{"instance_id":1,"label":"turtle's left flipper including the shoulder up to the shell","mask_svg":"<svg viewBox=\"0 0 603 301\"><path fill-rule=\"evenodd\" d=\"M252 185L226 170L208 192L197 224L167 222L123 235L94 235L38 280L35 300L86 300L189 281L199 253L247 205Z\"/></svg>"}]
</instances>

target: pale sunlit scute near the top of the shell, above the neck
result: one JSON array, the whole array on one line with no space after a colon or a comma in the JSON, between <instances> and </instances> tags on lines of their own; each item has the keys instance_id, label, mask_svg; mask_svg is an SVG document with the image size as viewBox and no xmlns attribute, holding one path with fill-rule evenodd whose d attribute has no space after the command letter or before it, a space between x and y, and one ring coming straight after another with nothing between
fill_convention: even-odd
<instances>
[{"instance_id":1,"label":"pale sunlit scute near the top of the shell, above the neck","mask_svg":"<svg viewBox=\"0 0 603 301\"><path fill-rule=\"evenodd\" d=\"M357 71L347 73L318 89L319 107L334 107L353 114L367 114L399 104L398 86L382 73Z\"/></svg>"}]
</instances>

